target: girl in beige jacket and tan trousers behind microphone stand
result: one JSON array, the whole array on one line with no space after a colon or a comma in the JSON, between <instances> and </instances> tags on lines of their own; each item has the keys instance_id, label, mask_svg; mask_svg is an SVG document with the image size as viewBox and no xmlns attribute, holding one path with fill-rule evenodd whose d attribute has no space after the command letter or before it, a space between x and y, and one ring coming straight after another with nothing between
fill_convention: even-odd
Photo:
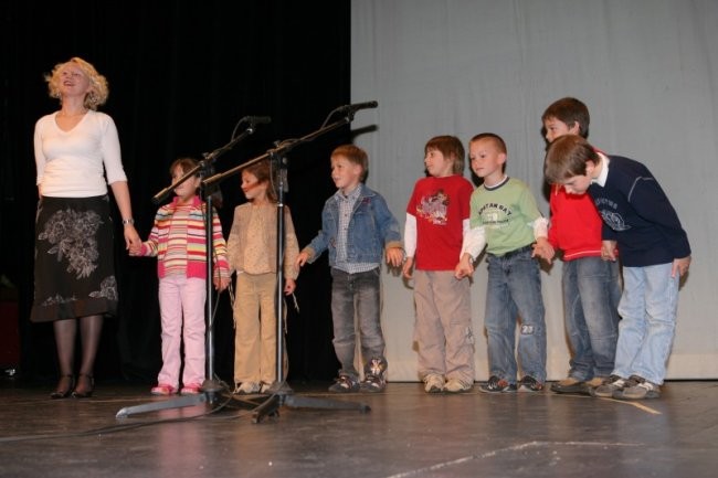
<instances>
[{"instance_id":1,"label":"girl in beige jacket and tan trousers behind microphone stand","mask_svg":"<svg viewBox=\"0 0 718 478\"><path fill-rule=\"evenodd\" d=\"M277 198L268 160L242 170L242 191L249 202L234 209L226 248L230 268L236 270L234 392L250 394L285 380L287 371L284 349L285 376L275 376ZM284 294L289 295L296 288L299 246L287 206L284 223Z\"/></svg>"}]
</instances>

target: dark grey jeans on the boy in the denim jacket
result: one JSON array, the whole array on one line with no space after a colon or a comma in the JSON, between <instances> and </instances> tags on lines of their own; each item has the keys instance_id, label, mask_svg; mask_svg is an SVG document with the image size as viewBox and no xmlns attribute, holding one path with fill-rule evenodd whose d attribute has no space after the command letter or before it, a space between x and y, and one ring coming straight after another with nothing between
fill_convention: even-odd
<instances>
[{"instance_id":1,"label":"dark grey jeans on the boy in the denim jacket","mask_svg":"<svg viewBox=\"0 0 718 478\"><path fill-rule=\"evenodd\" d=\"M359 376L355 367L355 317L359 326L361 358L365 364L371 359L384 358L384 337L381 331L381 291L379 267L366 273L348 274L331 268L331 319L334 321L334 351L341 363L339 374ZM356 307L355 307L356 306ZM365 370L366 372L366 370Z\"/></svg>"}]
</instances>

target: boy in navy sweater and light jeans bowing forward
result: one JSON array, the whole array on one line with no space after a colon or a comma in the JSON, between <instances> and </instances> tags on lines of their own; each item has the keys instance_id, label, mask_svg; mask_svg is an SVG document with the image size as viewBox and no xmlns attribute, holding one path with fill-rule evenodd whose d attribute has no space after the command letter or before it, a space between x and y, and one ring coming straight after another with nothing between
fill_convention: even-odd
<instances>
[{"instance_id":1,"label":"boy in navy sweater and light jeans bowing forward","mask_svg":"<svg viewBox=\"0 0 718 478\"><path fill-rule=\"evenodd\" d=\"M623 263L623 295L613 373L596 396L657 399L666 374L680 276L690 265L688 236L671 201L641 162L596 151L584 138L556 139L546 179L567 192L588 192L603 219L602 257Z\"/></svg>"}]
</instances>

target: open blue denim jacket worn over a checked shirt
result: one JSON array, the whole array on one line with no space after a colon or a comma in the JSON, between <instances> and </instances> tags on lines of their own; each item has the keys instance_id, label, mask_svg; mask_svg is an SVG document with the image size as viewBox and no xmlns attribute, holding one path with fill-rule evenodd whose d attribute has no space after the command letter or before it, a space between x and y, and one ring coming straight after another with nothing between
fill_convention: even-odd
<instances>
[{"instance_id":1,"label":"open blue denim jacket worn over a checked shirt","mask_svg":"<svg viewBox=\"0 0 718 478\"><path fill-rule=\"evenodd\" d=\"M361 193L353 205L347 231L347 262L381 264L384 248L402 247L399 223L381 194L365 184L360 188ZM339 204L332 195L324 203L321 231L305 247L309 253L308 262L315 262L323 252L329 249L329 265L334 266L338 233Z\"/></svg>"}]
</instances>

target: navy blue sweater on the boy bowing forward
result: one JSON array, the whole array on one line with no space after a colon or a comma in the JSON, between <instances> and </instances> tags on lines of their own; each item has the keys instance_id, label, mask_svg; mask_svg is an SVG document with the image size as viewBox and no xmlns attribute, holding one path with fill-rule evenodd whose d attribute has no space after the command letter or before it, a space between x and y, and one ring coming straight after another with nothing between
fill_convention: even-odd
<instances>
[{"instance_id":1,"label":"navy blue sweater on the boy bowing forward","mask_svg":"<svg viewBox=\"0 0 718 478\"><path fill-rule=\"evenodd\" d=\"M648 168L621 156L609 160L605 185L592 183L588 192L603 217L603 240L617 242L622 264L645 267L689 256L688 236Z\"/></svg>"}]
</instances>

